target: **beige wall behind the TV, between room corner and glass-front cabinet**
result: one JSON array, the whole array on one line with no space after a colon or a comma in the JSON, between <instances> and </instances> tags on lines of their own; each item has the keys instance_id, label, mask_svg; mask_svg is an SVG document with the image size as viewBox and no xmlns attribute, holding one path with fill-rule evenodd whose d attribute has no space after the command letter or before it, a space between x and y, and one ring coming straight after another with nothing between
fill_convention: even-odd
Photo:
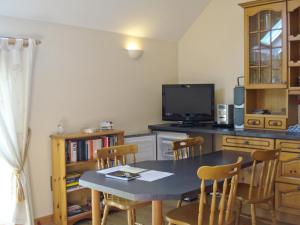
<instances>
[{"instance_id":1,"label":"beige wall behind the TV, between room corner and glass-front cabinet","mask_svg":"<svg viewBox=\"0 0 300 225\"><path fill-rule=\"evenodd\" d=\"M178 45L179 81L215 83L217 103L233 103L233 88L243 75L241 0L212 0Z\"/></svg>"}]
</instances>

